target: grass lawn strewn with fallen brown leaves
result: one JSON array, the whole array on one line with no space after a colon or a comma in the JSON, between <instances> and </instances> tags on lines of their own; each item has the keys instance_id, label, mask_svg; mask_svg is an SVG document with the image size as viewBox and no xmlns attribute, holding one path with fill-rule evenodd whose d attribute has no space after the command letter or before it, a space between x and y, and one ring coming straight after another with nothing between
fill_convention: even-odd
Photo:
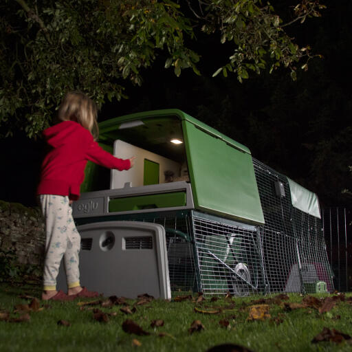
<instances>
[{"instance_id":1,"label":"grass lawn strewn with fallen brown leaves","mask_svg":"<svg viewBox=\"0 0 352 352\"><path fill-rule=\"evenodd\" d=\"M39 287L0 284L0 351L205 352L225 343L256 352L352 351L352 294L212 300L194 294L180 301L139 298L122 304L116 298L38 303L32 296L39 294ZM69 326L58 325L60 320ZM152 327L153 320L164 325ZM340 343L312 343L324 327L344 333L330 337ZM144 332L149 334L140 335ZM329 340L329 334L322 338Z\"/></svg>"}]
</instances>

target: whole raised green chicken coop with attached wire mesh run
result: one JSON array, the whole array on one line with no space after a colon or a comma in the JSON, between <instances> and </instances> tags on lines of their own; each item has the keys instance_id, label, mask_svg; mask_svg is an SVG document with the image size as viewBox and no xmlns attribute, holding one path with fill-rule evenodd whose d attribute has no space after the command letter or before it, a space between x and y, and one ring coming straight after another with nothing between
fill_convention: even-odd
<instances>
[{"instance_id":1,"label":"whole raised green chicken coop with attached wire mesh run","mask_svg":"<svg viewBox=\"0 0 352 352\"><path fill-rule=\"evenodd\" d=\"M91 289L333 291L318 197L246 146L177 109L104 121L99 144L136 159L122 172L87 164L73 214Z\"/></svg>"}]
</instances>

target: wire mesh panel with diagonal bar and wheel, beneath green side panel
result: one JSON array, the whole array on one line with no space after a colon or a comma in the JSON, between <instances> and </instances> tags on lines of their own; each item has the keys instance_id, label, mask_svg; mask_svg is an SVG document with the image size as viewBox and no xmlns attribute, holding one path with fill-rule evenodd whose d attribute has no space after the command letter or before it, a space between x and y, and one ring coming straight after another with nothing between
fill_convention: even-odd
<instances>
[{"instance_id":1,"label":"wire mesh panel with diagonal bar and wheel, beneath green side panel","mask_svg":"<svg viewBox=\"0 0 352 352\"><path fill-rule=\"evenodd\" d=\"M194 217L193 231L203 294L263 290L256 230Z\"/></svg>"}]
</instances>

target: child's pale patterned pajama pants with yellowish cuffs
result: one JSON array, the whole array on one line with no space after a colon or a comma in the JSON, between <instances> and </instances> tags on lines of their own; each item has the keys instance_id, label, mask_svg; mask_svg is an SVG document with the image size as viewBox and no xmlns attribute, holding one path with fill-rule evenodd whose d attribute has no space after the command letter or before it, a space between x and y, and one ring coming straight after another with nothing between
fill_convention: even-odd
<instances>
[{"instance_id":1,"label":"child's pale patterned pajama pants with yellowish cuffs","mask_svg":"<svg viewBox=\"0 0 352 352\"><path fill-rule=\"evenodd\" d=\"M72 218L69 198L61 195L40 195L39 197L46 231L43 289L56 289L56 276L62 259L67 287L80 286L78 269L80 234Z\"/></svg>"}]
</instances>

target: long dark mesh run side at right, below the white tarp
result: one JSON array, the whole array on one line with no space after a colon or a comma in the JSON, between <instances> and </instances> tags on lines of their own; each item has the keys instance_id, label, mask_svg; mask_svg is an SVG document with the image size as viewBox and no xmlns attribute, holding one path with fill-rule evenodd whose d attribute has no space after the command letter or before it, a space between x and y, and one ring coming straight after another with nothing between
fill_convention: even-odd
<instances>
[{"instance_id":1,"label":"long dark mesh run side at right, below the white tarp","mask_svg":"<svg viewBox=\"0 0 352 352\"><path fill-rule=\"evenodd\" d=\"M319 281L333 290L320 219L294 208L287 178L253 159L265 225L261 226L267 292L316 292ZM275 184L281 182L285 195Z\"/></svg>"}]
</instances>

